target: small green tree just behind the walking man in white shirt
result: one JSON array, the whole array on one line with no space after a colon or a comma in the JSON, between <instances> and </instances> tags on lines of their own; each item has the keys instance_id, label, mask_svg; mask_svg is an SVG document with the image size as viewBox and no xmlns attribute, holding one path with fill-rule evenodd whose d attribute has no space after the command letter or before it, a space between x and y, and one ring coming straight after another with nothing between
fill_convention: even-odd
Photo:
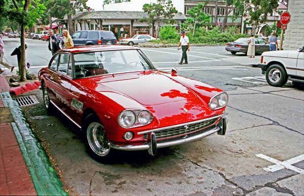
<instances>
[{"instance_id":1,"label":"small green tree just behind the walking man in white shirt","mask_svg":"<svg viewBox=\"0 0 304 196\"><path fill-rule=\"evenodd\" d=\"M210 16L203 12L203 7L204 5L199 3L198 6L188 10L190 17L186 19L185 23L181 24L185 30L192 30L192 35L194 35L196 28L210 24Z\"/></svg>"}]
</instances>

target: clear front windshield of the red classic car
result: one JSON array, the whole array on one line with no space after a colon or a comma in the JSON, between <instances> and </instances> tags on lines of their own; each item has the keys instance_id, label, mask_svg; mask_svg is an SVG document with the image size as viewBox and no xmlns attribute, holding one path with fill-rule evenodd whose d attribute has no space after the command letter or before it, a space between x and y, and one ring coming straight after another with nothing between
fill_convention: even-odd
<instances>
[{"instance_id":1,"label":"clear front windshield of the red classic car","mask_svg":"<svg viewBox=\"0 0 304 196\"><path fill-rule=\"evenodd\" d=\"M138 50L75 54L73 62L75 78L156 69Z\"/></svg>"}]
</instances>

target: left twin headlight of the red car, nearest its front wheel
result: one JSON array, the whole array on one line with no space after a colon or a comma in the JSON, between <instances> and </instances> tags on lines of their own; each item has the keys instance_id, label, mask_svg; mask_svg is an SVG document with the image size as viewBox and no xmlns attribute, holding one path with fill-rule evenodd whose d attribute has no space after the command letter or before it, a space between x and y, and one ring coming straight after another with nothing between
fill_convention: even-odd
<instances>
[{"instance_id":1,"label":"left twin headlight of the red car, nearest its front wheel","mask_svg":"<svg viewBox=\"0 0 304 196\"><path fill-rule=\"evenodd\" d=\"M133 128L149 124L154 116L147 110L128 109L118 116L118 124L123 128Z\"/></svg>"}]
</instances>

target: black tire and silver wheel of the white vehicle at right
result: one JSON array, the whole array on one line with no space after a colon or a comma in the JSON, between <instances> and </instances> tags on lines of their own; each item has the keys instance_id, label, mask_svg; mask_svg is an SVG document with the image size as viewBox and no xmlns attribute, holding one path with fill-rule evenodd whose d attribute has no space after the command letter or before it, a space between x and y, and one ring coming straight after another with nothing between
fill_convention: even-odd
<instances>
[{"instance_id":1,"label":"black tire and silver wheel of the white vehicle at right","mask_svg":"<svg viewBox=\"0 0 304 196\"><path fill-rule=\"evenodd\" d=\"M271 86L284 86L287 82L287 74L284 68L278 64L269 66L266 70L266 80Z\"/></svg>"}]
</instances>

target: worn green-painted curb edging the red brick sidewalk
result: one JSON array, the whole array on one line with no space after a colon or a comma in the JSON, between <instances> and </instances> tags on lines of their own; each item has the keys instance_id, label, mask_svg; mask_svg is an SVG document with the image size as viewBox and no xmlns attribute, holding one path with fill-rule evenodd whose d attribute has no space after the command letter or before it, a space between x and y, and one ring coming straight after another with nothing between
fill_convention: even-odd
<instances>
[{"instance_id":1,"label":"worn green-painted curb edging the red brick sidewalk","mask_svg":"<svg viewBox=\"0 0 304 196\"><path fill-rule=\"evenodd\" d=\"M11 110L15 121L12 126L37 194L68 195L18 103L12 100L9 92L2 92L1 96L5 106Z\"/></svg>"}]
</instances>

